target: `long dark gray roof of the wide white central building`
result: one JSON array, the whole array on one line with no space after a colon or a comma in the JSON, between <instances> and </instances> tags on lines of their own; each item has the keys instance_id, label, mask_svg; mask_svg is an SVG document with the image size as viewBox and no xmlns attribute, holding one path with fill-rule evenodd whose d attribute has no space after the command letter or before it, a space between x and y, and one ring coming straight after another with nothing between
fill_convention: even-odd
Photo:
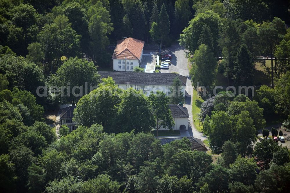
<instances>
[{"instance_id":1,"label":"long dark gray roof of the wide white central building","mask_svg":"<svg viewBox=\"0 0 290 193\"><path fill-rule=\"evenodd\" d=\"M145 73L145 72L106 72L99 71L101 78L112 77L116 84L135 85L172 85L173 79L179 77L183 86L187 78L175 73Z\"/></svg>"}]
</instances>

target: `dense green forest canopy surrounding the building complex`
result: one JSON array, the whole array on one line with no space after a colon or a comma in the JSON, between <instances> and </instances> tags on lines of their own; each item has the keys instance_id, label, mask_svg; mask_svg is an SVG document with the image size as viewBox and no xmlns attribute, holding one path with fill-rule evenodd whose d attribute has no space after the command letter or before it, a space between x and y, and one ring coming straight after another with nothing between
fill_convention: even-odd
<instances>
[{"instance_id":1,"label":"dense green forest canopy surrounding the building complex","mask_svg":"<svg viewBox=\"0 0 290 193\"><path fill-rule=\"evenodd\" d=\"M284 0L0 0L0 191L287 192L289 150L255 142L269 136L273 117L290 130L289 10ZM271 84L254 85L255 97L222 91L200 104L215 163L186 138L161 145L151 134L174 125L168 104L184 97L146 97L100 79L126 37L179 43L193 87L202 83L206 94L217 74L233 87L253 85L255 63L271 60ZM39 86L85 82L98 87L83 97L37 95ZM61 126L57 139L44 112L67 103L78 128Z\"/></svg>"}]
</instances>

